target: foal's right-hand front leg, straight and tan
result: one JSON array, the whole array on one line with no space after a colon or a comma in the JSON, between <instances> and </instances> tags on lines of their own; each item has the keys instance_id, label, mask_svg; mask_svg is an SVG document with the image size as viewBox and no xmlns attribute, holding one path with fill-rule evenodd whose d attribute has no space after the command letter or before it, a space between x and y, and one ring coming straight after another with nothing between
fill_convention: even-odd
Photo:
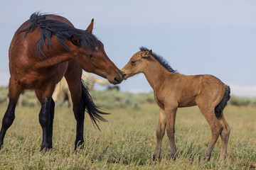
<instances>
[{"instance_id":1,"label":"foal's right-hand front leg, straight and tan","mask_svg":"<svg viewBox=\"0 0 256 170\"><path fill-rule=\"evenodd\" d=\"M171 157L175 157L176 154L176 145L174 140L174 127L175 127L175 119L176 119L176 107L166 107L165 113L166 113L166 133L170 140L170 146L171 146Z\"/></svg>"}]
</instances>

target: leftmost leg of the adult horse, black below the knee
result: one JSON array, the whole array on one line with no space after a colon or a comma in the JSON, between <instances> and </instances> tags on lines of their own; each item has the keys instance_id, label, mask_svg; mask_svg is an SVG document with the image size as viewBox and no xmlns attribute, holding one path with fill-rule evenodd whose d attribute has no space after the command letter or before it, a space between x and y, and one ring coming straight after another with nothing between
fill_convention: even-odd
<instances>
[{"instance_id":1,"label":"leftmost leg of the adult horse, black below the knee","mask_svg":"<svg viewBox=\"0 0 256 170\"><path fill-rule=\"evenodd\" d=\"M2 126L0 131L0 149L4 144L4 136L6 131L10 128L15 118L15 108L18 101L18 96L22 93L23 89L15 81L13 77L9 81L9 104L2 120Z\"/></svg>"}]
</instances>

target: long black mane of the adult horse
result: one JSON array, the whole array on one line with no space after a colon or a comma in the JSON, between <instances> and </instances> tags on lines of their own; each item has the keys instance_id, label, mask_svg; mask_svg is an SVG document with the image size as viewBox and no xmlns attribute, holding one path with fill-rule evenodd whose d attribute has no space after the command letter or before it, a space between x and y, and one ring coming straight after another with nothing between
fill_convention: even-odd
<instances>
[{"instance_id":1,"label":"long black mane of the adult horse","mask_svg":"<svg viewBox=\"0 0 256 170\"><path fill-rule=\"evenodd\" d=\"M65 49L67 50L70 49L65 43L64 39L70 40L72 37L78 38L80 40L82 48L84 48L85 50L95 50L95 47L99 45L99 41L91 33L87 33L87 31L85 30L74 28L60 21L46 19L46 16L50 16L50 14L42 15L41 13L33 13L29 19L29 21L31 21L31 25L28 26L28 28L19 32L26 32L26 38L26 35L28 33L32 33L37 26L41 28L41 38L40 40L38 40L38 42L36 42L36 45L38 45L39 57L47 58L46 55L43 53L43 46L46 47L46 50L48 51L48 56L50 56L48 45L53 45L53 42L50 40L52 35L56 35L60 44L63 45L63 47L65 47ZM45 42L46 39L47 41Z\"/></svg>"}]
</instances>

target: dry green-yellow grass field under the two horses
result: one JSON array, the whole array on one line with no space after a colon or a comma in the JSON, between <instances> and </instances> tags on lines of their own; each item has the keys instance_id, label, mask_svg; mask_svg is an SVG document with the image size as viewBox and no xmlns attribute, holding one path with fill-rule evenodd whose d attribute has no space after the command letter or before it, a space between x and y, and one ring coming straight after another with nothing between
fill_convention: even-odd
<instances>
[{"instance_id":1,"label":"dry green-yellow grass field under the two horses","mask_svg":"<svg viewBox=\"0 0 256 170\"><path fill-rule=\"evenodd\" d=\"M6 111L0 105L0 119ZM86 114L85 147L74 152L75 118L70 108L55 108L53 149L39 152L42 130L38 121L40 108L17 107L16 119L6 132L0 150L0 169L252 169L256 163L256 108L227 106L225 119L231 134L228 157L218 160L220 138L210 162L203 153L210 142L210 128L197 107L180 108L176 117L178 157L170 158L165 135L161 159L151 165L156 145L159 109L156 103L142 103L139 108L106 108L108 123L95 129Z\"/></svg>"}]
</instances>

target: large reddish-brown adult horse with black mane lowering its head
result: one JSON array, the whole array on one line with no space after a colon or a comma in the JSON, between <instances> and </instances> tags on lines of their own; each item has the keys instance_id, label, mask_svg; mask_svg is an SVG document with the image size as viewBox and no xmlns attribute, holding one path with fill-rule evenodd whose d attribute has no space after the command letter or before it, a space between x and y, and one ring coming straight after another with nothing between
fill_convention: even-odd
<instances>
[{"instance_id":1,"label":"large reddish-brown adult horse with black mane lowering its head","mask_svg":"<svg viewBox=\"0 0 256 170\"><path fill-rule=\"evenodd\" d=\"M95 125L99 120L106 121L102 115L107 113L97 109L81 83L82 69L104 77L112 84L121 83L122 73L107 57L102 42L92 35L93 21L92 19L87 30L80 30L62 16L33 13L16 30L9 47L10 100L2 120L0 148L6 130L14 121L18 96L24 89L35 89L36 97L41 103L41 150L53 147L55 103L52 95L55 85L63 77L68 82L77 121L75 149L84 142L85 111Z\"/></svg>"}]
</instances>

